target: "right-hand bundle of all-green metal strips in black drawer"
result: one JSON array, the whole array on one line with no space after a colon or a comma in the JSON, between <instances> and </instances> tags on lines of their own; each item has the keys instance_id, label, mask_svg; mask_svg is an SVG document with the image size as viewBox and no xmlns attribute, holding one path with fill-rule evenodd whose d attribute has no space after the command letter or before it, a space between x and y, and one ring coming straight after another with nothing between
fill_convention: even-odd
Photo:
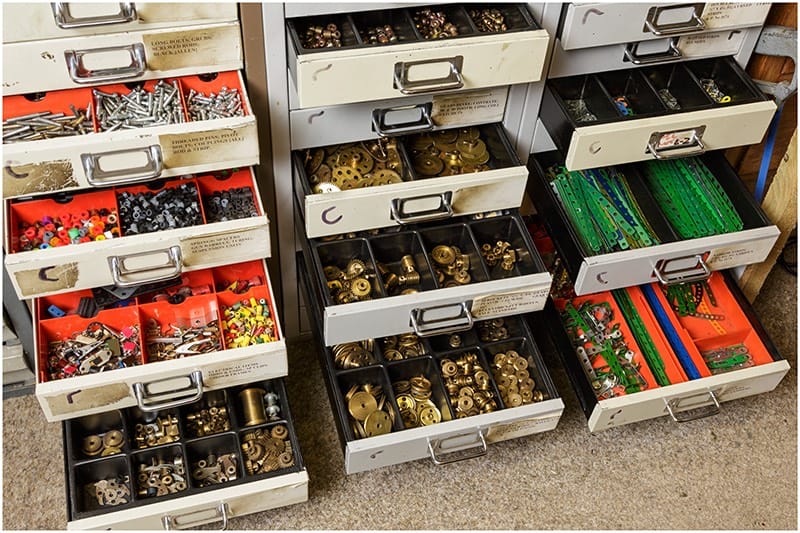
<instances>
[{"instance_id":1,"label":"right-hand bundle of all-green metal strips in black drawer","mask_svg":"<svg viewBox=\"0 0 800 533\"><path fill-rule=\"evenodd\" d=\"M650 161L643 168L653 197L681 238L742 230L742 218L700 159Z\"/></svg>"}]
</instances>

